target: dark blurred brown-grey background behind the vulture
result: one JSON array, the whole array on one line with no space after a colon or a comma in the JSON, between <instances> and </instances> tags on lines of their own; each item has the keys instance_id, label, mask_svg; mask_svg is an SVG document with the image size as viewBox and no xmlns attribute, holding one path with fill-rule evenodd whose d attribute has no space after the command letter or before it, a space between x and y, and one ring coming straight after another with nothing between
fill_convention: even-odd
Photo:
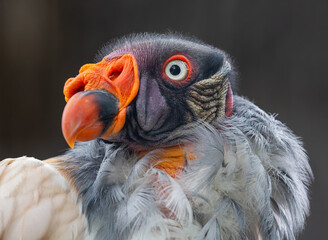
<instances>
[{"instance_id":1,"label":"dark blurred brown-grey background behind the vulture","mask_svg":"<svg viewBox=\"0 0 328 240\"><path fill-rule=\"evenodd\" d=\"M327 0L0 0L0 159L63 153L66 79L113 38L168 30L230 53L239 93L303 138L315 182L300 239L327 239Z\"/></svg>"}]
</instances>

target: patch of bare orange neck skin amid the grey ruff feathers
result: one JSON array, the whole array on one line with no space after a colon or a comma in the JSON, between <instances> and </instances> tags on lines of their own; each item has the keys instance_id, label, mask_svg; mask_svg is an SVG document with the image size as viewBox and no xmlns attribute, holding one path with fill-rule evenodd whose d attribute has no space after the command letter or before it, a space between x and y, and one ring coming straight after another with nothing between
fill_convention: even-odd
<instances>
[{"instance_id":1,"label":"patch of bare orange neck skin amid the grey ruff feathers","mask_svg":"<svg viewBox=\"0 0 328 240\"><path fill-rule=\"evenodd\" d=\"M154 153L157 159L153 164L153 167L166 172L172 178L175 178L183 171L186 161L190 162L197 158L196 155L190 153L188 148L189 147L186 146L163 148L163 151ZM150 151L141 152L140 157L143 157Z\"/></svg>"}]
</instances>

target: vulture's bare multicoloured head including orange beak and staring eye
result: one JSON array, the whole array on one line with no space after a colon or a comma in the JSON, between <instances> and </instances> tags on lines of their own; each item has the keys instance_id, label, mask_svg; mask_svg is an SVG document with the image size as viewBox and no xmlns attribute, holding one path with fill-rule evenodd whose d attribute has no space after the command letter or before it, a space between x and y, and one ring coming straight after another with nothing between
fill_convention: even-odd
<instances>
[{"instance_id":1,"label":"vulture's bare multicoloured head including orange beak and staring eye","mask_svg":"<svg viewBox=\"0 0 328 240\"><path fill-rule=\"evenodd\" d=\"M226 53L177 35L145 34L105 47L64 88L68 144L101 138L144 149L180 144L200 121L233 108Z\"/></svg>"}]
</instances>

